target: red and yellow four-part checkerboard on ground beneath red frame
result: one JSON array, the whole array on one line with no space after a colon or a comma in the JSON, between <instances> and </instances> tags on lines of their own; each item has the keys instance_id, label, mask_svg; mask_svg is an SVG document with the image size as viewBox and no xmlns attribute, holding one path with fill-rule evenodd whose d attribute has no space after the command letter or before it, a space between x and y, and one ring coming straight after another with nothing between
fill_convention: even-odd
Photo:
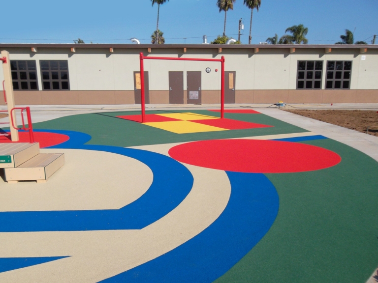
<instances>
[{"instance_id":1,"label":"red and yellow four-part checkerboard on ground beneath red frame","mask_svg":"<svg viewBox=\"0 0 378 283\"><path fill-rule=\"evenodd\" d=\"M141 115L124 115L118 118L141 123ZM144 125L162 129L176 134L215 132L267 128L269 125L233 120L196 113L147 114Z\"/></svg>"}]
</instances>

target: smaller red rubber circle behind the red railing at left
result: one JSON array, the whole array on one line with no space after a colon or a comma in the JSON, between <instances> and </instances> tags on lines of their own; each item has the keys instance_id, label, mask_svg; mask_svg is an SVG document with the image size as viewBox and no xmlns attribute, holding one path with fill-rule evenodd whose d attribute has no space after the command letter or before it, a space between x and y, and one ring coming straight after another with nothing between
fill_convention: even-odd
<instances>
[{"instance_id":1,"label":"smaller red rubber circle behind the red railing at left","mask_svg":"<svg viewBox=\"0 0 378 283\"><path fill-rule=\"evenodd\" d=\"M9 134L9 133L8 133ZM48 132L33 132L34 142L39 142L39 147L49 147L57 145L69 140L67 135L57 134L57 133L48 133ZM30 142L29 132L19 132L18 133L19 141L18 142ZM1 142L12 142L9 136L0 136Z\"/></svg>"}]
</instances>

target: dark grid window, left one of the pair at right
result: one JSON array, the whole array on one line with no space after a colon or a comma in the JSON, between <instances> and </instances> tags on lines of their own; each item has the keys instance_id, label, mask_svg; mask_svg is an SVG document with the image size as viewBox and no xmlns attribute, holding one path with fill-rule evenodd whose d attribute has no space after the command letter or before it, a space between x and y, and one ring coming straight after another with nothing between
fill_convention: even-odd
<instances>
[{"instance_id":1,"label":"dark grid window, left one of the pair at right","mask_svg":"<svg viewBox=\"0 0 378 283\"><path fill-rule=\"evenodd\" d=\"M321 89L323 61L298 61L297 89Z\"/></svg>"}]
</instances>

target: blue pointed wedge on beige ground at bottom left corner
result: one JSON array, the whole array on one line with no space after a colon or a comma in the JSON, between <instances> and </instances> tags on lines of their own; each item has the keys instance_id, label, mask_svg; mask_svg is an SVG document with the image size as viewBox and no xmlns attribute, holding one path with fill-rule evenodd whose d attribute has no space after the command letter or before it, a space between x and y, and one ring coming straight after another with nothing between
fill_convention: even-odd
<instances>
[{"instance_id":1,"label":"blue pointed wedge on beige ground at bottom left corner","mask_svg":"<svg viewBox=\"0 0 378 283\"><path fill-rule=\"evenodd\" d=\"M6 257L0 258L0 273L32 265L46 263L69 256L48 256L48 257Z\"/></svg>"}]
</instances>

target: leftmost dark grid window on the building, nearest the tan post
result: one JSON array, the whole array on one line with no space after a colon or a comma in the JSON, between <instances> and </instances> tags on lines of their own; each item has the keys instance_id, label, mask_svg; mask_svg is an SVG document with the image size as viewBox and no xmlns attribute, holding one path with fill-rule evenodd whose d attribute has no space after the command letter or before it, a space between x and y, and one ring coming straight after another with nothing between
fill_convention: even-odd
<instances>
[{"instance_id":1,"label":"leftmost dark grid window on the building, nearest the tan post","mask_svg":"<svg viewBox=\"0 0 378 283\"><path fill-rule=\"evenodd\" d=\"M11 60L14 90L38 90L37 67L34 60Z\"/></svg>"}]
</instances>

